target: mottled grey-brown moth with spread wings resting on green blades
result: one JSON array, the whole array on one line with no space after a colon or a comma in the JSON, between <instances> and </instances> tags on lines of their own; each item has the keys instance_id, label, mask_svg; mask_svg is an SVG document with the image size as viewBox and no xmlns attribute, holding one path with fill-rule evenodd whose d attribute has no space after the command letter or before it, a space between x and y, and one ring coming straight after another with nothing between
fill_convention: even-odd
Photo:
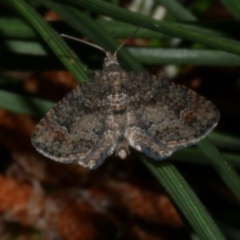
<instances>
[{"instance_id":1,"label":"mottled grey-brown moth with spread wings resting on green blades","mask_svg":"<svg viewBox=\"0 0 240 240\"><path fill-rule=\"evenodd\" d=\"M219 111L206 98L162 78L123 70L116 52L106 52L102 71L68 93L37 124L32 134L37 151L90 169L114 152L125 159L129 147L162 160L216 126Z\"/></svg>"}]
</instances>

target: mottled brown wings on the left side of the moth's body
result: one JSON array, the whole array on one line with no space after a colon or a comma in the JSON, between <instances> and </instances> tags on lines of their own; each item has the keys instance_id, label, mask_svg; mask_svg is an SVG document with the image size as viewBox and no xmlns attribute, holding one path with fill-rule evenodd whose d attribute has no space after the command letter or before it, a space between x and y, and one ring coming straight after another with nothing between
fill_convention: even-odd
<instances>
[{"instance_id":1,"label":"mottled brown wings on the left side of the moth's body","mask_svg":"<svg viewBox=\"0 0 240 240\"><path fill-rule=\"evenodd\" d=\"M105 129L102 91L101 80L96 77L73 89L38 123L33 146L58 162L99 166L116 145L114 134Z\"/></svg>"}]
</instances>

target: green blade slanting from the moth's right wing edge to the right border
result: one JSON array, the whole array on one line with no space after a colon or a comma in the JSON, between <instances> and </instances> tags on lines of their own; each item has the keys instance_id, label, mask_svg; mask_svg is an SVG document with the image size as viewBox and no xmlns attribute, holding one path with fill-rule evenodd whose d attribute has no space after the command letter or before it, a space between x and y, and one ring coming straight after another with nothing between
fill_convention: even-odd
<instances>
[{"instance_id":1,"label":"green blade slanting from the moth's right wing edge to the right border","mask_svg":"<svg viewBox=\"0 0 240 240\"><path fill-rule=\"evenodd\" d=\"M197 146L211 161L212 166L232 193L240 200L240 177L237 172L227 163L207 137L200 141Z\"/></svg>"}]
</instances>

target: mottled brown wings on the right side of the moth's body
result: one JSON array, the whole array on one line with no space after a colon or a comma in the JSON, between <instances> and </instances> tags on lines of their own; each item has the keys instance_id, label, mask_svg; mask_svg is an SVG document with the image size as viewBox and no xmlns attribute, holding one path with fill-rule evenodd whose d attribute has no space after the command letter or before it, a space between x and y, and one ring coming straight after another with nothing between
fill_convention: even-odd
<instances>
[{"instance_id":1,"label":"mottled brown wings on the right side of the moth's body","mask_svg":"<svg viewBox=\"0 0 240 240\"><path fill-rule=\"evenodd\" d=\"M154 159L195 144L217 124L219 112L194 91L144 73L128 74L135 126L127 129L130 145Z\"/></svg>"}]
</instances>

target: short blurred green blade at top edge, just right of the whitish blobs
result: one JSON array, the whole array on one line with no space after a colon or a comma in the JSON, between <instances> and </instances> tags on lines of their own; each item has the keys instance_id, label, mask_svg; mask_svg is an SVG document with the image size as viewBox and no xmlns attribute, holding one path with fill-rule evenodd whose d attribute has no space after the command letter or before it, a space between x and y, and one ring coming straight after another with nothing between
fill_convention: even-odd
<instances>
[{"instance_id":1,"label":"short blurred green blade at top edge, just right of the whitish blobs","mask_svg":"<svg viewBox=\"0 0 240 240\"><path fill-rule=\"evenodd\" d=\"M197 18L175 0L155 0L155 2L164 6L178 20L195 21Z\"/></svg>"}]
</instances>

